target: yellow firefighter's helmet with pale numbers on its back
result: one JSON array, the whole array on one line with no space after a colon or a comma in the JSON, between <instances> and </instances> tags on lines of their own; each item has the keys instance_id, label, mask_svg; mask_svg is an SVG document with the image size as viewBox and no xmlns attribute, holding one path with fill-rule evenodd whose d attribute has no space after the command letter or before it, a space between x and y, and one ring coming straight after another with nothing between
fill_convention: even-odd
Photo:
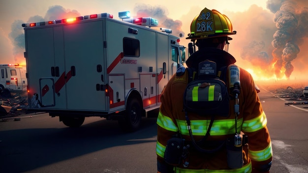
<instances>
[{"instance_id":1,"label":"yellow firefighter's helmet with pale numbers on its back","mask_svg":"<svg viewBox=\"0 0 308 173\"><path fill-rule=\"evenodd\" d=\"M190 33L186 39L203 39L236 34L232 30L229 18L219 11L204 8L190 24ZM229 39L231 39L229 37Z\"/></svg>"}]
</instances>

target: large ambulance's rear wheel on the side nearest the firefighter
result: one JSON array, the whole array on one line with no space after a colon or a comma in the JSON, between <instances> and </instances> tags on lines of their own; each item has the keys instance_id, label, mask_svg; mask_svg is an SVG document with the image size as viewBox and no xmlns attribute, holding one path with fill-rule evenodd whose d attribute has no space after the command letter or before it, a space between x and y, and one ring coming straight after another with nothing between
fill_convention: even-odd
<instances>
[{"instance_id":1,"label":"large ambulance's rear wheel on the side nearest the firefighter","mask_svg":"<svg viewBox=\"0 0 308 173\"><path fill-rule=\"evenodd\" d=\"M119 120L119 125L126 132L138 130L141 124L142 107L136 99L129 99L126 105L125 117Z\"/></svg>"}]
</instances>

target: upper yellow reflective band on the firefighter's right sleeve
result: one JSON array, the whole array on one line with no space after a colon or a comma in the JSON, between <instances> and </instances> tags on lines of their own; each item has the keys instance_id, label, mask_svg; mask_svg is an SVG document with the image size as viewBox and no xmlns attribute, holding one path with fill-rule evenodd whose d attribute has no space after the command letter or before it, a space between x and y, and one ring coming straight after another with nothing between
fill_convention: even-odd
<instances>
[{"instance_id":1,"label":"upper yellow reflective band on the firefighter's right sleeve","mask_svg":"<svg viewBox=\"0 0 308 173\"><path fill-rule=\"evenodd\" d=\"M261 115L253 119L245 120L243 122L243 132L255 132L264 128L267 124L266 115L262 112Z\"/></svg>"}]
</instances>

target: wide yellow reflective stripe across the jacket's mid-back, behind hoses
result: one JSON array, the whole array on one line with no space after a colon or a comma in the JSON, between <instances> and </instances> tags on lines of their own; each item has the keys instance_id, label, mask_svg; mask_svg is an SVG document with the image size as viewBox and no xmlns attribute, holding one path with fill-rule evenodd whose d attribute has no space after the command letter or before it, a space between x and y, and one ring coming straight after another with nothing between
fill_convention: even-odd
<instances>
[{"instance_id":1,"label":"wide yellow reflective stripe across the jacket's mid-back, behind hoses","mask_svg":"<svg viewBox=\"0 0 308 173\"><path fill-rule=\"evenodd\" d=\"M193 135L204 136L208 130L209 120L190 120L190 128ZM238 119L237 131L242 128L243 118ZM177 119L179 130L183 135L189 135L185 120ZM210 134L211 136L229 135L235 133L235 119L219 119L213 122Z\"/></svg>"}]
</instances>

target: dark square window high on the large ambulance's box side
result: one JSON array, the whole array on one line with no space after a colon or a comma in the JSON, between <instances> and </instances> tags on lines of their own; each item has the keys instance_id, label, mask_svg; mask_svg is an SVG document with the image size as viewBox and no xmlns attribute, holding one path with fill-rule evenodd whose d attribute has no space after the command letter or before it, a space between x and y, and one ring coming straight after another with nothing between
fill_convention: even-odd
<instances>
[{"instance_id":1,"label":"dark square window high on the large ambulance's box side","mask_svg":"<svg viewBox=\"0 0 308 173\"><path fill-rule=\"evenodd\" d=\"M125 57L140 56L140 42L132 38L123 38L123 53Z\"/></svg>"}]
</instances>

